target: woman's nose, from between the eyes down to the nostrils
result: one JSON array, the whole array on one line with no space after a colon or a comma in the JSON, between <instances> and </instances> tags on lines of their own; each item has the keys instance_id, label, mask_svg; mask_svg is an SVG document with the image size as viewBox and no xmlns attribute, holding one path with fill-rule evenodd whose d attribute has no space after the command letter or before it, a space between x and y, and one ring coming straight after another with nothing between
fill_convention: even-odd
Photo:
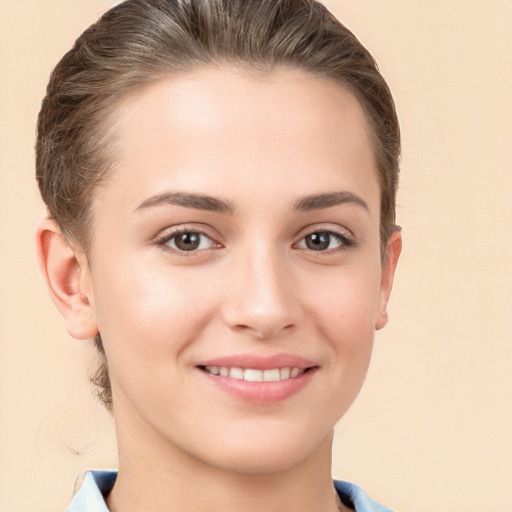
<instances>
[{"instance_id":1,"label":"woman's nose, from between the eyes down to the nostrils","mask_svg":"<svg viewBox=\"0 0 512 512\"><path fill-rule=\"evenodd\" d=\"M301 316L293 272L282 255L260 250L240 255L226 283L224 322L258 339L291 332Z\"/></svg>"}]
</instances>

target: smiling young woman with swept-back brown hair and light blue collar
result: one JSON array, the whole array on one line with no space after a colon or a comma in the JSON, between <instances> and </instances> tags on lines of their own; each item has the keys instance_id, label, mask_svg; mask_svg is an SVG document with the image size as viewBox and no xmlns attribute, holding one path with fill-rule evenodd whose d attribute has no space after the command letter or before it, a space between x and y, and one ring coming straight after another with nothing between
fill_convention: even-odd
<instances>
[{"instance_id":1,"label":"smiling young woman with swept-back brown hair and light blue collar","mask_svg":"<svg viewBox=\"0 0 512 512\"><path fill-rule=\"evenodd\" d=\"M119 471L69 511L388 510L331 479L401 249L393 101L313 0L128 0L39 115L38 254Z\"/></svg>"}]
</instances>

